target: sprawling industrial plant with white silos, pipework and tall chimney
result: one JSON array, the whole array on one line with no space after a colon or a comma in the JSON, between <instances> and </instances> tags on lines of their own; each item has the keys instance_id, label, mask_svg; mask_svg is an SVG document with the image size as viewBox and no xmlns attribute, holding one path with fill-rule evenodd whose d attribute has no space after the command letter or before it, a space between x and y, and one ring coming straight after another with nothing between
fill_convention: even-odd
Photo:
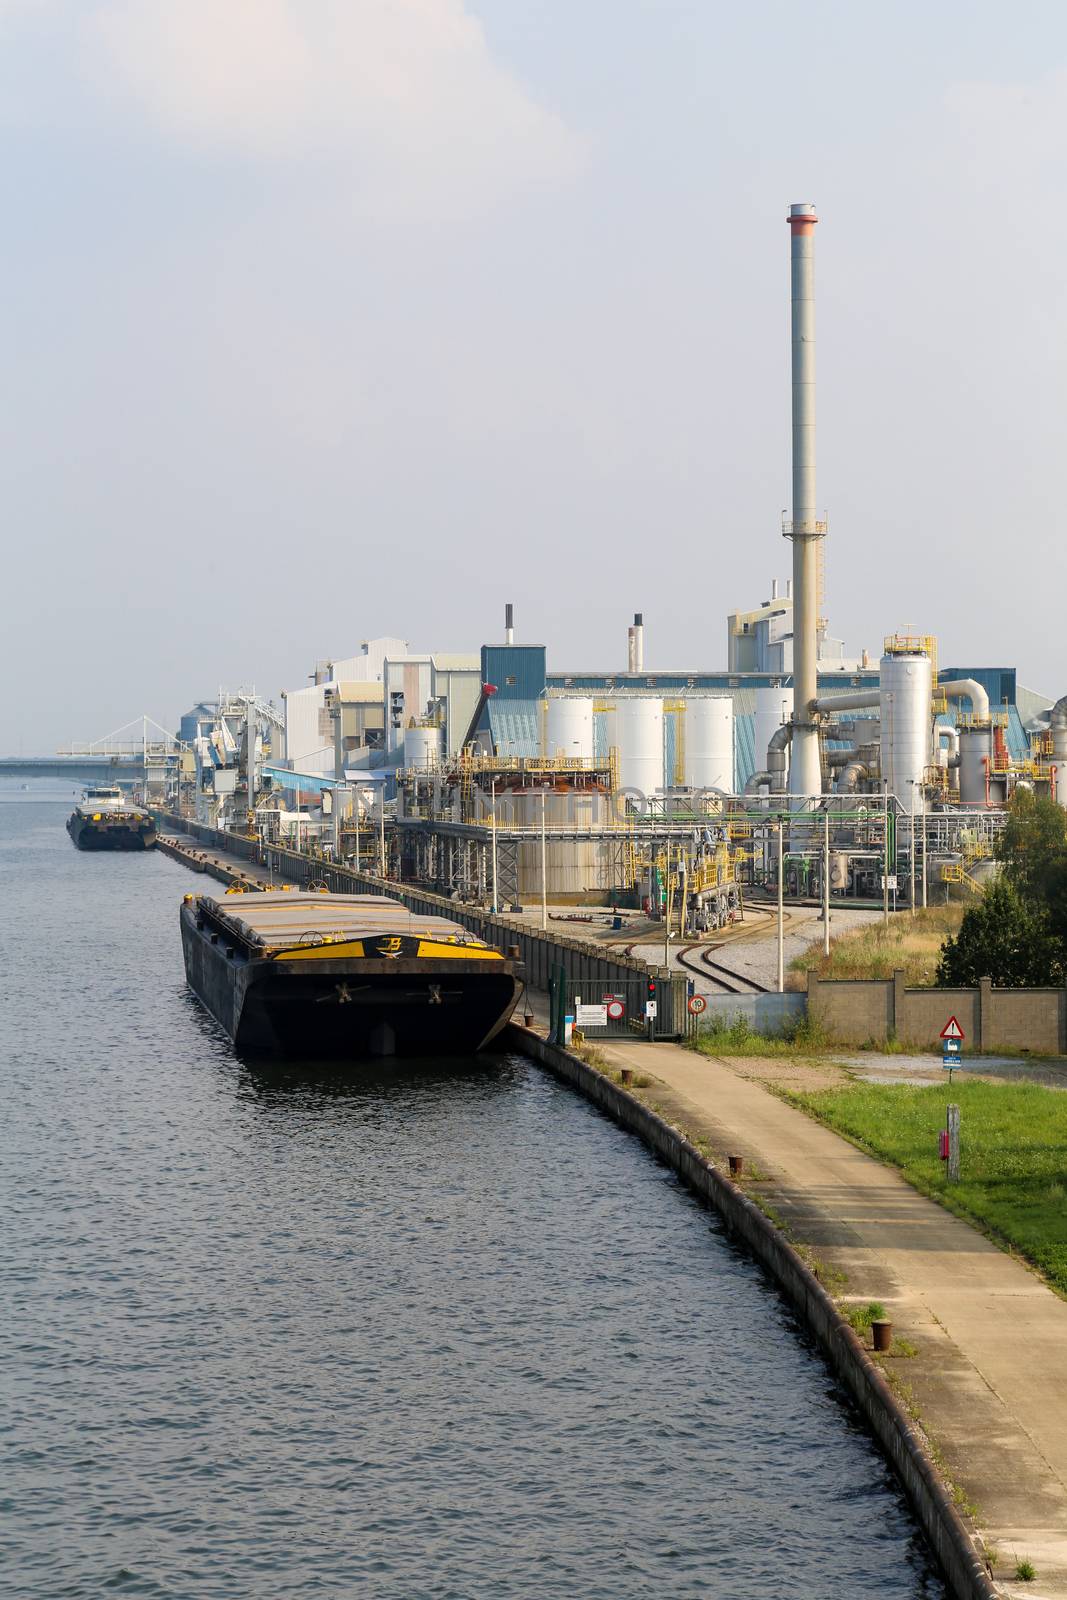
<instances>
[{"instance_id":1,"label":"sprawling industrial plant with white silos, pipework and tall chimney","mask_svg":"<svg viewBox=\"0 0 1067 1600\"><path fill-rule=\"evenodd\" d=\"M601 906L696 938L768 893L889 912L981 883L1019 787L1067 805L1067 696L942 666L933 634L891 632L877 659L832 637L814 206L787 222L792 570L726 618L725 669L651 667L635 613L617 667L560 670L506 603L477 650L379 637L280 704L198 702L146 755L149 798L458 902Z\"/></svg>"}]
</instances>

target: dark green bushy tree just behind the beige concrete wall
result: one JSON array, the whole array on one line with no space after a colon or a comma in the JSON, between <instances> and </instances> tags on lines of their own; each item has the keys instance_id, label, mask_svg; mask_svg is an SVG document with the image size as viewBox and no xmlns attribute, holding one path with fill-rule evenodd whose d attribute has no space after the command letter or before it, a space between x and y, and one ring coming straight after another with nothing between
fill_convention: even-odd
<instances>
[{"instance_id":1,"label":"dark green bushy tree just behind the beige concrete wall","mask_svg":"<svg viewBox=\"0 0 1067 1600\"><path fill-rule=\"evenodd\" d=\"M979 978L1003 987L1046 989L1062 984L1064 976L1064 942L1048 910L1024 899L1006 875L963 914L937 962L937 982L953 989L971 989Z\"/></svg>"}]
</instances>

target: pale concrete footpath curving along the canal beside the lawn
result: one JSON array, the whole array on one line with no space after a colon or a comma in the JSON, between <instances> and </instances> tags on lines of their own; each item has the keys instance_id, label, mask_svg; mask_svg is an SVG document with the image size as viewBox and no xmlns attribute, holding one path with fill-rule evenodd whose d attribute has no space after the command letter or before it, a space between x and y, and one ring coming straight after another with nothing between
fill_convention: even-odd
<instances>
[{"instance_id":1,"label":"pale concrete footpath curving along the canal beside the lawn","mask_svg":"<svg viewBox=\"0 0 1067 1600\"><path fill-rule=\"evenodd\" d=\"M598 1043L613 1067L713 1158L745 1157L744 1187L846 1282L886 1306L917 1355L886 1360L961 1491L1005 1594L1067 1600L1067 1302L891 1170L728 1061L677 1045ZM739 1062L739 1066L742 1066ZM1019 1560L1037 1581L1014 1581Z\"/></svg>"}]
</instances>

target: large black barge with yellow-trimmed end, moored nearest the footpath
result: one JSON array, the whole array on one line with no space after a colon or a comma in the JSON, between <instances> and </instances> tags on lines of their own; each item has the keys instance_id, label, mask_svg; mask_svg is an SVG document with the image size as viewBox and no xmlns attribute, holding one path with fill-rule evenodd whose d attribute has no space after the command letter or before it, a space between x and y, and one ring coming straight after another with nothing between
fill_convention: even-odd
<instances>
[{"instance_id":1,"label":"large black barge with yellow-trimmed end, moored nearest the footpath","mask_svg":"<svg viewBox=\"0 0 1067 1600\"><path fill-rule=\"evenodd\" d=\"M518 998L518 963L384 894L187 894L189 986L253 1056L456 1056Z\"/></svg>"}]
</instances>

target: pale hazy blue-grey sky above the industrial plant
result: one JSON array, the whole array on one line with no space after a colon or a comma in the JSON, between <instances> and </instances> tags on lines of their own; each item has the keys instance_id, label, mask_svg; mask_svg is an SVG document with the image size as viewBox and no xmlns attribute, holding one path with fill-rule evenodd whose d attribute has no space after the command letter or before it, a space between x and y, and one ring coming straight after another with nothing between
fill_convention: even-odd
<instances>
[{"instance_id":1,"label":"pale hazy blue-grey sky above the industrial plant","mask_svg":"<svg viewBox=\"0 0 1067 1600\"><path fill-rule=\"evenodd\" d=\"M789 230L849 653L1067 691L1067 10L0 0L0 754L394 634L725 666Z\"/></svg>"}]
</instances>

